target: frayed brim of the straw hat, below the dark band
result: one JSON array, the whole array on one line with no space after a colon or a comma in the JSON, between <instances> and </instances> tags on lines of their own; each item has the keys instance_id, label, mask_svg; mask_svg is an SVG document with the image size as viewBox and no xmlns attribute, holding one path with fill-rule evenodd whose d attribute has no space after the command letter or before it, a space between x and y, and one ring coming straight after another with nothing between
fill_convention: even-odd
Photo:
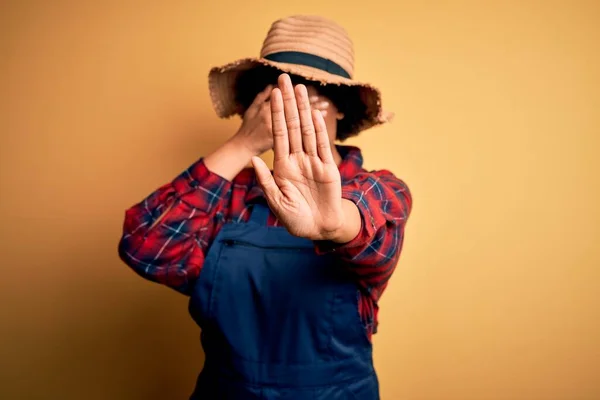
<instances>
[{"instance_id":1,"label":"frayed brim of the straw hat, below the dark band","mask_svg":"<svg viewBox=\"0 0 600 400\"><path fill-rule=\"evenodd\" d=\"M375 86L358 82L317 68L298 64L286 64L264 58L244 58L232 63L213 67L208 75L208 87L213 108L220 118L241 115L243 110L236 101L235 87L240 74L253 68L273 67L281 72L300 76L320 85L345 85L359 88L360 101L366 107L365 118L357 127L357 132L390 122L394 113L385 111L381 105L381 92Z\"/></svg>"}]
</instances>

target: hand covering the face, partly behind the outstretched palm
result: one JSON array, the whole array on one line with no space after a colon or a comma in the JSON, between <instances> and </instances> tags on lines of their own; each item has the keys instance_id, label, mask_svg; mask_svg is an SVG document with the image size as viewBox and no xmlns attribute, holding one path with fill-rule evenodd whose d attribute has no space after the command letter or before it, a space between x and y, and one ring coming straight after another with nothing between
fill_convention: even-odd
<instances>
[{"instance_id":1,"label":"hand covering the face, partly behind the outstretched palm","mask_svg":"<svg viewBox=\"0 0 600 400\"><path fill-rule=\"evenodd\" d=\"M269 97L273 85L256 95L243 115L242 125L231 139L244 146L252 156L259 156L273 148L271 105Z\"/></svg>"}]
</instances>

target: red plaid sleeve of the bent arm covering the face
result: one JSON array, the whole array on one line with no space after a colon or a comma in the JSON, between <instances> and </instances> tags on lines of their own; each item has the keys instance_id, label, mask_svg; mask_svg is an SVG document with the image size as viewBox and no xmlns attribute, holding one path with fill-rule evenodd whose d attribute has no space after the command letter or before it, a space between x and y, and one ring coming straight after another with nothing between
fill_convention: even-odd
<instances>
[{"instance_id":1,"label":"red plaid sleeve of the bent arm covering the face","mask_svg":"<svg viewBox=\"0 0 600 400\"><path fill-rule=\"evenodd\" d=\"M119 256L138 275L189 294L231 182L202 159L125 212Z\"/></svg>"}]
</instances>

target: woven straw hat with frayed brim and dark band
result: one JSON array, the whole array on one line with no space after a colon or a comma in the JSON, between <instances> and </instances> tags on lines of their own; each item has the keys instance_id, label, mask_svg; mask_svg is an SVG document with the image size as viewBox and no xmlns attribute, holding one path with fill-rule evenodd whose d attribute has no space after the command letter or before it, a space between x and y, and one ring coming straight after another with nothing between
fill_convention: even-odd
<instances>
[{"instance_id":1,"label":"woven straw hat with frayed brim and dark band","mask_svg":"<svg viewBox=\"0 0 600 400\"><path fill-rule=\"evenodd\" d=\"M213 107L220 118L243 115L236 101L236 81L253 68L274 67L321 85L357 87L356 98L364 116L353 128L356 134L393 118L382 109L380 91L354 80L354 47L344 28L319 16L295 15L275 21L258 58L244 58L213 67L208 82ZM352 99L354 100L354 99Z\"/></svg>"}]
</instances>

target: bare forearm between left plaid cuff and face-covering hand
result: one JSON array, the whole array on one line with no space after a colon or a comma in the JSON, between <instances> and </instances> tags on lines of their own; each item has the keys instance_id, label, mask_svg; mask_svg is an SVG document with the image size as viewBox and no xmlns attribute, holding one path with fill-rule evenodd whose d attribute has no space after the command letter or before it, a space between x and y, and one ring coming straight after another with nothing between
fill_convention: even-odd
<instances>
[{"instance_id":1,"label":"bare forearm between left plaid cuff and face-covering hand","mask_svg":"<svg viewBox=\"0 0 600 400\"><path fill-rule=\"evenodd\" d=\"M233 136L217 150L204 158L204 165L211 172L232 181L256 154L242 137Z\"/></svg>"}]
</instances>

